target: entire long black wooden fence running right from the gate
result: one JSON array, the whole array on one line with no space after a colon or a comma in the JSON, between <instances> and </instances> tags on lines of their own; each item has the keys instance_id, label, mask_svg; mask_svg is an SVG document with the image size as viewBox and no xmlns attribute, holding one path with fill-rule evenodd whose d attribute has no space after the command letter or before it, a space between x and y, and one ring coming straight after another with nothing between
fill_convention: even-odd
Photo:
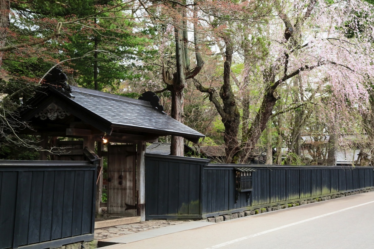
<instances>
[{"instance_id":1,"label":"entire long black wooden fence running right from the gate","mask_svg":"<svg viewBox=\"0 0 374 249\"><path fill-rule=\"evenodd\" d=\"M251 172L236 190L236 172ZM374 187L373 167L208 164L146 156L146 219L206 218ZM248 184L248 183L246 183Z\"/></svg>"}]
</instances>

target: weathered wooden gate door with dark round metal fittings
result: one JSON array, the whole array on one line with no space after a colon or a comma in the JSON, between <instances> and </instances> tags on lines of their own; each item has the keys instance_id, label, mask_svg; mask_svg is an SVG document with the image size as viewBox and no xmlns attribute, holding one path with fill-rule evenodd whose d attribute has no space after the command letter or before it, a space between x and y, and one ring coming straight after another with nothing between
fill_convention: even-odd
<instances>
[{"instance_id":1,"label":"weathered wooden gate door with dark round metal fittings","mask_svg":"<svg viewBox=\"0 0 374 249\"><path fill-rule=\"evenodd\" d=\"M136 144L108 145L108 215L135 216Z\"/></svg>"}]
</instances>

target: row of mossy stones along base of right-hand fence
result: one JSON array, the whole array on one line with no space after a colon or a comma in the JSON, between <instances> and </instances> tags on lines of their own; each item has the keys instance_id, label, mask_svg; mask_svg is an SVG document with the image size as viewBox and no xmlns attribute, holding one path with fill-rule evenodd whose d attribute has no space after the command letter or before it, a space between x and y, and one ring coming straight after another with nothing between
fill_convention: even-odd
<instances>
[{"instance_id":1,"label":"row of mossy stones along base of right-hand fence","mask_svg":"<svg viewBox=\"0 0 374 249\"><path fill-rule=\"evenodd\" d=\"M279 209L292 208L294 206L306 205L306 204L310 204L310 203L314 203L314 202L321 202L321 201L324 201L324 200L331 200L331 199L335 199L335 198L350 196L350 195L353 195L353 194L367 193L367 192L371 192L371 191L374 191L374 188L358 190L358 191L355 191L355 192L348 192L348 193L342 193L342 194L333 194L333 195L318 197L318 198L309 199L309 200L300 200L298 202L291 202L291 203L286 203L286 204L283 204L283 205L271 206L271 207L266 207L266 208L256 208L254 210L248 210L248 211L244 211L244 212L233 213L231 215L220 215L220 216L217 216L217 217L207 218L206 221L208 221L208 222L228 221L228 220L233 220L233 219L236 219L236 218L241 218L241 217L245 217L245 216L249 216L249 215L262 214L262 213L271 212L271 211L275 211L275 210L279 210Z\"/></svg>"}]
</instances>

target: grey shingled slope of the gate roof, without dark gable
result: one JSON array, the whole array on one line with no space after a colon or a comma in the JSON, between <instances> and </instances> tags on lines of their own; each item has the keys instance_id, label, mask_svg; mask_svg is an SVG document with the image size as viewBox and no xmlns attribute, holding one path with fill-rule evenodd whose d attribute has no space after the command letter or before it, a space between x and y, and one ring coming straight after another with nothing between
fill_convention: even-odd
<instances>
[{"instance_id":1,"label":"grey shingled slope of the gate roof, without dark gable","mask_svg":"<svg viewBox=\"0 0 374 249\"><path fill-rule=\"evenodd\" d=\"M203 137L204 135L152 108L148 101L132 99L81 87L71 87L72 101L111 122L113 126L162 135Z\"/></svg>"}]
</instances>

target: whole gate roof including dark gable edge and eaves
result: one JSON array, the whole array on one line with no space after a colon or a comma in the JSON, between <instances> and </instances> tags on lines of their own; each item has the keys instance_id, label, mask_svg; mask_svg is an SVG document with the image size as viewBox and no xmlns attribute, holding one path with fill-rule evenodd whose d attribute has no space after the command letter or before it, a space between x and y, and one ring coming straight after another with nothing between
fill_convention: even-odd
<instances>
[{"instance_id":1,"label":"whole gate roof including dark gable edge and eaves","mask_svg":"<svg viewBox=\"0 0 374 249\"><path fill-rule=\"evenodd\" d=\"M110 134L113 128L137 133L152 133L159 136L175 135L197 142L203 134L175 120L166 113L154 109L150 102L132 99L116 94L104 93L71 86L71 97L54 87L47 87L27 103L28 119L45 108L48 103L56 103L60 108L79 116L85 122ZM44 101L44 102L43 102Z\"/></svg>"}]
</instances>

